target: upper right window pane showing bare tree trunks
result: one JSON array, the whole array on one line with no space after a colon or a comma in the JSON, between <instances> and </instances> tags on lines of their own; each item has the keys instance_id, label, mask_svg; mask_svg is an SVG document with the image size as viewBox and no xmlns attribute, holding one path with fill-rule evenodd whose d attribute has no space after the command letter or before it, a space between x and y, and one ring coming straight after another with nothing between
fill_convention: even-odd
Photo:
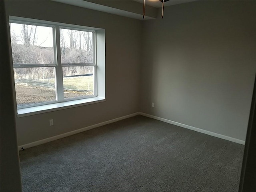
<instances>
[{"instance_id":1,"label":"upper right window pane showing bare tree trunks","mask_svg":"<svg viewBox=\"0 0 256 192\"><path fill-rule=\"evenodd\" d=\"M93 63L93 33L60 29L62 63Z\"/></svg>"}]
</instances>

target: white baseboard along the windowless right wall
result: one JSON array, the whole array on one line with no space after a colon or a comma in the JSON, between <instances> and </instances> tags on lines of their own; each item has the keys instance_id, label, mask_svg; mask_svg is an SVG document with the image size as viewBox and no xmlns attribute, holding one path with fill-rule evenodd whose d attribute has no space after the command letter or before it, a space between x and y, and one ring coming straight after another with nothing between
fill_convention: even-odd
<instances>
[{"instance_id":1,"label":"white baseboard along the windowless right wall","mask_svg":"<svg viewBox=\"0 0 256 192\"><path fill-rule=\"evenodd\" d=\"M160 121L163 121L163 122L166 122L166 123L169 123L169 124L173 124L173 125L176 125L176 126L180 126L180 127L183 127L183 128L193 130L193 131L204 133L204 134L207 134L207 135L210 135L210 136L218 137L218 138L225 139L225 140L228 140L228 141L232 141L232 142L235 142L235 143L239 143L239 144L242 144L242 145L245 144L245 141L239 140L239 139L236 139L236 138L232 138L232 137L229 137L229 136L225 136L225 135L221 135L221 134L218 134L218 133L206 131L206 130L203 130L203 129L200 129L200 128L192 127L192 126L189 126L189 125L185 125L185 124L182 124L182 123L178 123L178 122L175 122L175 121L171 121L171 120L168 120L168 119L164 119L164 118L161 118L161 117L157 117L157 116L142 113L142 112L139 112L139 114L142 115L142 116L146 116L146 117L149 117L149 118L152 118L152 119L160 120Z\"/></svg>"}]
</instances>

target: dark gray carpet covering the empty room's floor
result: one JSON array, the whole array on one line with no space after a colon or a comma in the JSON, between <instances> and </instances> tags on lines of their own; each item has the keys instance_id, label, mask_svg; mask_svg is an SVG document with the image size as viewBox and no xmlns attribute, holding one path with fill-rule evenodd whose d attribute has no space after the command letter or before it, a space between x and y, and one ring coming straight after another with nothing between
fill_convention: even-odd
<instances>
[{"instance_id":1,"label":"dark gray carpet covering the empty room's floor","mask_svg":"<svg viewBox=\"0 0 256 192\"><path fill-rule=\"evenodd\" d=\"M20 152L24 192L237 192L244 146L135 116Z\"/></svg>"}]
</instances>

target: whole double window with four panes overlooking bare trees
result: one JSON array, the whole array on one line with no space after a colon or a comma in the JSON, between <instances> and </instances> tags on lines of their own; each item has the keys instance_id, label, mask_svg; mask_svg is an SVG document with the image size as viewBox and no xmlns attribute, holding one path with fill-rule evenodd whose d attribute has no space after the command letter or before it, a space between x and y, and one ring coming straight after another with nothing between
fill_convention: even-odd
<instances>
[{"instance_id":1,"label":"whole double window with four panes overlooking bare trees","mask_svg":"<svg viewBox=\"0 0 256 192\"><path fill-rule=\"evenodd\" d=\"M10 38L18 109L98 96L97 29L12 18Z\"/></svg>"}]
</instances>

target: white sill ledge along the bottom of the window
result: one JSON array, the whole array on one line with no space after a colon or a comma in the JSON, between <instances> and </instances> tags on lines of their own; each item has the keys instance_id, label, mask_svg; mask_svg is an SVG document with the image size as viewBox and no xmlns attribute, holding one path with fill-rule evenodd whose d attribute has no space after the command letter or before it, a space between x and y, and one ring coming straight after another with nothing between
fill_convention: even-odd
<instances>
[{"instance_id":1,"label":"white sill ledge along the bottom of the window","mask_svg":"<svg viewBox=\"0 0 256 192\"><path fill-rule=\"evenodd\" d=\"M68 109L73 107L90 105L94 103L100 103L104 101L106 101L105 98L93 97L93 98L66 101L66 102L60 102L60 103L54 103L54 104L48 104L48 105L42 105L42 106L36 106L36 107L29 107L24 109L18 109L17 116L18 118L25 117L25 116L47 113L47 112L63 110L63 109Z\"/></svg>"}]
</instances>

